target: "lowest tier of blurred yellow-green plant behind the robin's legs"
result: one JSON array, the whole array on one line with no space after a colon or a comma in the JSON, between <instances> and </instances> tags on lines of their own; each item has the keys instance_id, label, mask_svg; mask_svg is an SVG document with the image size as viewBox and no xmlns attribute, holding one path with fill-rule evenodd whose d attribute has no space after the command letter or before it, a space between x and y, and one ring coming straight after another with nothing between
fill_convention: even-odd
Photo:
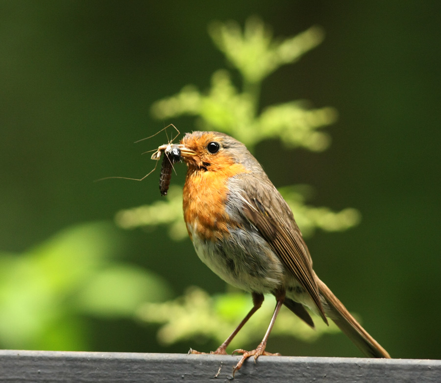
<instances>
[{"instance_id":1,"label":"lowest tier of blurred yellow-green plant behind the robin's legs","mask_svg":"<svg viewBox=\"0 0 441 383\"><path fill-rule=\"evenodd\" d=\"M189 288L184 296L165 303L146 303L138 311L140 319L162 325L158 340L169 345L177 341L214 339L221 344L251 309L249 294L228 292L210 297L197 287ZM274 299L268 296L247 325L234 338L234 344L262 340L269 318L274 310ZM291 335L304 341L317 339L324 333L338 332L337 326L327 327L316 321L313 330L288 309L282 308L271 331L272 335Z\"/></svg>"}]
</instances>

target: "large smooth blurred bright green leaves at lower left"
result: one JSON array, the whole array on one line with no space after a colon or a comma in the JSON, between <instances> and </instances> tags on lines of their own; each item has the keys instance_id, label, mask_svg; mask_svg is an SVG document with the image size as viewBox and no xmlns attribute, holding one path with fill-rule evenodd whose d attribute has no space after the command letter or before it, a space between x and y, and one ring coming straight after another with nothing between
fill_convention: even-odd
<instances>
[{"instance_id":1,"label":"large smooth blurred bright green leaves at lower left","mask_svg":"<svg viewBox=\"0 0 441 383\"><path fill-rule=\"evenodd\" d=\"M87 350L85 316L133 317L170 296L158 276L117 260L122 244L111 224L90 223L0 254L1 347Z\"/></svg>"}]
</instances>

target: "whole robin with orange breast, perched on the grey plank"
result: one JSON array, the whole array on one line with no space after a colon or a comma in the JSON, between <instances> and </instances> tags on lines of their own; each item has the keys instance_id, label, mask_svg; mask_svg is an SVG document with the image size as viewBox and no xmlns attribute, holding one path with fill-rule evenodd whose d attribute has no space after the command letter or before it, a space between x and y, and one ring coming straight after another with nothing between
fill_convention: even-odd
<instances>
[{"instance_id":1,"label":"whole robin with orange breast, perched on the grey plank","mask_svg":"<svg viewBox=\"0 0 441 383\"><path fill-rule=\"evenodd\" d=\"M367 357L390 358L316 275L290 207L244 144L223 133L196 131L173 146L188 167L184 219L198 257L253 299L253 308L212 354L226 354L264 294L271 293L276 306L268 330L256 349L234 351L243 356L233 374L251 356L280 355L265 348L282 305L314 327L308 307L326 324L332 319Z\"/></svg>"}]
</instances>

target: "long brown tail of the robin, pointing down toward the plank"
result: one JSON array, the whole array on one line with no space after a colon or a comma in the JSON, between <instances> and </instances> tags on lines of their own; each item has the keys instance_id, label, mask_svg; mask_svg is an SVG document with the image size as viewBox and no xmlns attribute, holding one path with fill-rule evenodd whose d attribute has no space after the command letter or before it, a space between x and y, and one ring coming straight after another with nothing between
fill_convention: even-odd
<instances>
[{"instance_id":1,"label":"long brown tail of the robin, pointing down toward the plank","mask_svg":"<svg viewBox=\"0 0 441 383\"><path fill-rule=\"evenodd\" d=\"M317 276L316 280L320 294L327 303L324 307L326 315L354 342L363 354L369 358L391 358L388 352L368 334L360 323L346 310L343 303L337 299Z\"/></svg>"}]
</instances>

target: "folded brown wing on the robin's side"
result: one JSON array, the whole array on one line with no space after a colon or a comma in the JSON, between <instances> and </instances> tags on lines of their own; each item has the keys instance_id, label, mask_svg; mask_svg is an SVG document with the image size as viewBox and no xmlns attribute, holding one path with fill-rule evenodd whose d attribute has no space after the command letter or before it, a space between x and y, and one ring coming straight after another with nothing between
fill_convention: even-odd
<instances>
[{"instance_id":1,"label":"folded brown wing on the robin's side","mask_svg":"<svg viewBox=\"0 0 441 383\"><path fill-rule=\"evenodd\" d=\"M259 184L259 192L256 188L244 190L242 193L244 215L259 230L287 269L293 273L314 301L324 322L328 323L320 303L311 256L300 229L280 193L271 183L270 187L266 185Z\"/></svg>"}]
</instances>

